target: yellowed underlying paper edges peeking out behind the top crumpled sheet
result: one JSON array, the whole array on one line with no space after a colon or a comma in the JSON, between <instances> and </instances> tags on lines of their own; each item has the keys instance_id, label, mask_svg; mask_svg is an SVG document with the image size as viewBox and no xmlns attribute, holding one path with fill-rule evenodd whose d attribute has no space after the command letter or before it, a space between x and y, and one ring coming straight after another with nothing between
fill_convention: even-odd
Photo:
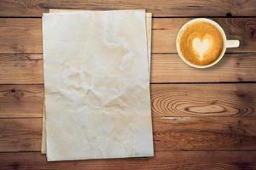
<instances>
[{"instance_id":1,"label":"yellowed underlying paper edges peeking out behind the top crumpled sheet","mask_svg":"<svg viewBox=\"0 0 256 170\"><path fill-rule=\"evenodd\" d=\"M49 13L65 13L65 12L77 12L77 9L49 9ZM84 10L86 11L86 10ZM148 71L150 75L150 64L151 64L151 27L152 27L152 14L146 13L146 29L147 29L147 46L148 46ZM41 142L41 153L46 153L46 135L45 135L45 113L43 111L43 128L42 128L42 142Z\"/></svg>"}]
</instances>

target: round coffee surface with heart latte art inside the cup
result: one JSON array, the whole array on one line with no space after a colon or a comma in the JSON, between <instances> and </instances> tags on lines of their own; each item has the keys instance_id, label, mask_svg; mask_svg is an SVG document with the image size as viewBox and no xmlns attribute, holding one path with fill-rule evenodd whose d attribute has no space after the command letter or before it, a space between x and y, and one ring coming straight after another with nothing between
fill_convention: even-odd
<instances>
[{"instance_id":1,"label":"round coffee surface with heart latte art inside the cup","mask_svg":"<svg viewBox=\"0 0 256 170\"><path fill-rule=\"evenodd\" d=\"M185 26L178 40L183 59L194 65L211 64L224 48L221 32L207 21L195 21Z\"/></svg>"}]
</instances>

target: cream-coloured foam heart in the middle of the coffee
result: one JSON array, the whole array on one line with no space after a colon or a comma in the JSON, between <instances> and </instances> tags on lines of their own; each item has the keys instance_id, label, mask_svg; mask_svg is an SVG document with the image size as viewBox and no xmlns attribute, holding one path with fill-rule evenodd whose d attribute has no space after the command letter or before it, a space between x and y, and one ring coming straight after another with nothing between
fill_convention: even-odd
<instances>
[{"instance_id":1,"label":"cream-coloured foam heart in the middle of the coffee","mask_svg":"<svg viewBox=\"0 0 256 170\"><path fill-rule=\"evenodd\" d=\"M210 48L210 45L211 43L208 38L204 38L201 40L198 37L195 37L195 39L193 40L193 48L195 49L195 52L200 55L201 58Z\"/></svg>"}]
</instances>

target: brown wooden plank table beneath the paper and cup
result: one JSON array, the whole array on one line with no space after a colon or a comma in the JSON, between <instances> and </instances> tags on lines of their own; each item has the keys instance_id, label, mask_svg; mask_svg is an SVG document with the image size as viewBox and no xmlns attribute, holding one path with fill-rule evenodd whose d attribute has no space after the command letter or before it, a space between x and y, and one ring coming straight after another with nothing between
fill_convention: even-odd
<instances>
[{"instance_id":1,"label":"brown wooden plank table beneath the paper and cup","mask_svg":"<svg viewBox=\"0 0 256 170\"><path fill-rule=\"evenodd\" d=\"M151 98L154 158L47 162L41 16L49 8L147 8L154 15ZM206 70L185 65L177 31L216 20L240 48ZM1 0L0 169L256 169L255 0Z\"/></svg>"}]
</instances>

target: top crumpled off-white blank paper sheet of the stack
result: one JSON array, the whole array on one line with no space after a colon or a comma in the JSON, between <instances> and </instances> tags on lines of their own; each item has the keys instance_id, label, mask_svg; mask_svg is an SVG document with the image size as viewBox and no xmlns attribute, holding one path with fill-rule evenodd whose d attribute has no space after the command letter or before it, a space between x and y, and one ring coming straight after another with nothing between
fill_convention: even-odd
<instances>
[{"instance_id":1,"label":"top crumpled off-white blank paper sheet of the stack","mask_svg":"<svg viewBox=\"0 0 256 170\"><path fill-rule=\"evenodd\" d=\"M91 17L44 14L48 160L153 156L145 13Z\"/></svg>"}]
</instances>

